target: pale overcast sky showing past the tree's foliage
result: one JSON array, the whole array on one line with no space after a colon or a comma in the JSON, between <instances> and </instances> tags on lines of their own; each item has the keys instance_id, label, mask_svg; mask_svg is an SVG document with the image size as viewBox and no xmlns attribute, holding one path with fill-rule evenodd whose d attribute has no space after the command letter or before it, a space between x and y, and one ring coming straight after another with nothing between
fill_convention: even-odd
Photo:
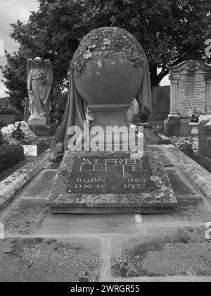
<instances>
[{"instance_id":1,"label":"pale overcast sky showing past the tree's foliage","mask_svg":"<svg viewBox=\"0 0 211 296\"><path fill-rule=\"evenodd\" d=\"M0 65L5 65L6 58L2 56L2 44L4 49L9 52L17 51L18 44L9 36L11 23L16 23L17 20L27 23L30 16L30 11L36 11L39 7L37 0L0 0ZM0 72L0 80L2 75ZM169 81L165 78L162 85L169 85ZM0 81L0 97L4 97L6 87Z\"/></svg>"}]
</instances>

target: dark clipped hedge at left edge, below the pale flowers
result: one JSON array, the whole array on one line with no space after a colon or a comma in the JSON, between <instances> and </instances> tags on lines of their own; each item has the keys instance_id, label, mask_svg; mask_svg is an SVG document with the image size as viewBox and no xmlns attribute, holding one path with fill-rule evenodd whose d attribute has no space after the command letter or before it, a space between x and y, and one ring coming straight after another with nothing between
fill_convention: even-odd
<instances>
[{"instance_id":1,"label":"dark clipped hedge at left edge, below the pale flowers","mask_svg":"<svg viewBox=\"0 0 211 296\"><path fill-rule=\"evenodd\" d=\"M20 145L0 145L0 173L24 159L23 147Z\"/></svg>"}]
</instances>

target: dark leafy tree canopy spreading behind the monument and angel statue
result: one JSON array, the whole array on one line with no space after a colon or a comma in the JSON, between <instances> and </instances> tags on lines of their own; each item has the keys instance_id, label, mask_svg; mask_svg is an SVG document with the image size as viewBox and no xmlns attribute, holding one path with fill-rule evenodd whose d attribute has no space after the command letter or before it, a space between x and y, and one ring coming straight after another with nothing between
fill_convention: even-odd
<instances>
[{"instance_id":1,"label":"dark leafy tree canopy spreading behind the monument and angel statue","mask_svg":"<svg viewBox=\"0 0 211 296\"><path fill-rule=\"evenodd\" d=\"M39 0L39 4L26 25L20 21L11 25L11 37L20 49L13 56L6 54L2 71L12 95L27 94L25 66L27 58L35 56L51 59L53 90L63 90L73 53L96 27L123 27L138 39L148 56L152 85L160 83L169 66L207 58L210 0Z\"/></svg>"}]
</instances>

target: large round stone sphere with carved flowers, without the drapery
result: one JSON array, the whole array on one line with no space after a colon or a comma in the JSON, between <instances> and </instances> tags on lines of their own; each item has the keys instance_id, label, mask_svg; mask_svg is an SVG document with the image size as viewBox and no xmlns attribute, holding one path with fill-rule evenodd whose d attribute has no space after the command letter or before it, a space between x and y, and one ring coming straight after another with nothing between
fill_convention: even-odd
<instances>
[{"instance_id":1,"label":"large round stone sphere with carved flowers, without the drapery","mask_svg":"<svg viewBox=\"0 0 211 296\"><path fill-rule=\"evenodd\" d=\"M87 104L129 104L139 93L146 63L134 36L118 27L101 27L84 37L71 67L77 92Z\"/></svg>"}]
</instances>

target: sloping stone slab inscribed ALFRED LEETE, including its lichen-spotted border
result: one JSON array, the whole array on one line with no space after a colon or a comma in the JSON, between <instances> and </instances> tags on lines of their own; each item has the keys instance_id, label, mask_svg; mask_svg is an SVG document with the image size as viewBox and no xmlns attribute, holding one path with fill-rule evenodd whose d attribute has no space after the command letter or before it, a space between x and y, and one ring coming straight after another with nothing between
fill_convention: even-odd
<instances>
[{"instance_id":1,"label":"sloping stone slab inscribed ALFRED LEETE, including its lichen-spotted border","mask_svg":"<svg viewBox=\"0 0 211 296\"><path fill-rule=\"evenodd\" d=\"M48 204L53 213L172 212L177 205L158 152L66 152Z\"/></svg>"}]
</instances>

